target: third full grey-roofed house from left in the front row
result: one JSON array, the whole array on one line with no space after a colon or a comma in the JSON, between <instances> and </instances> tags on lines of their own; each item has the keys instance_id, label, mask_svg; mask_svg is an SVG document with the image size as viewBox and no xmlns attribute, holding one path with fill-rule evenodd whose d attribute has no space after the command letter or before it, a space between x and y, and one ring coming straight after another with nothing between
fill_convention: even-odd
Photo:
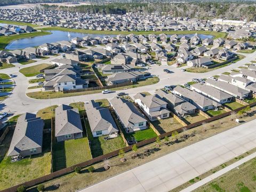
<instances>
[{"instance_id":1,"label":"third full grey-roofed house from left in the front row","mask_svg":"<svg viewBox=\"0 0 256 192\"><path fill-rule=\"evenodd\" d=\"M109 135L110 138L118 136L118 127L108 108L100 107L99 102L91 100L85 105L86 115L93 137Z\"/></svg>"}]
</instances>

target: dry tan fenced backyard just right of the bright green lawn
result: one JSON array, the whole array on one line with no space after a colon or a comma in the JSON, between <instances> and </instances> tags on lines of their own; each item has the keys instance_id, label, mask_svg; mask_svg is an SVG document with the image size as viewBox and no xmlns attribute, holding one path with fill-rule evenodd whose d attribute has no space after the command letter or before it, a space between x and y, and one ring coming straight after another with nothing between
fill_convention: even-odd
<instances>
[{"instance_id":1,"label":"dry tan fenced backyard just right of the bright green lawn","mask_svg":"<svg viewBox=\"0 0 256 192\"><path fill-rule=\"evenodd\" d=\"M156 120L151 122L160 134L170 132L182 127L182 125L173 117Z\"/></svg>"}]
</instances>

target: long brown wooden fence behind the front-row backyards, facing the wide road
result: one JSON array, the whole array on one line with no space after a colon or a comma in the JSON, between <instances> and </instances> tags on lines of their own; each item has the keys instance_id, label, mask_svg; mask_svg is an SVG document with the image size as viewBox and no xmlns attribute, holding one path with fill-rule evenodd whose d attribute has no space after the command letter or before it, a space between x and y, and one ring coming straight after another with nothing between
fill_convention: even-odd
<instances>
[{"instance_id":1,"label":"long brown wooden fence behind the front-row backyards, facing the wide road","mask_svg":"<svg viewBox=\"0 0 256 192\"><path fill-rule=\"evenodd\" d=\"M233 111L237 112L241 109L244 109L246 108L247 106L250 106L250 107L253 107L253 106L256 106L256 102L254 103L251 103L250 105L246 105L246 106L243 106L243 107L240 107L238 109L235 109ZM193 124L189 124L187 126L183 126L183 127L180 127L179 129L177 130L173 130L173 131L178 131L179 133L181 133L183 130L188 130L188 129L192 129L194 127L197 127L199 125L202 125L203 122L205 123L210 123L210 122L213 122L217 119L220 119L220 118L223 118L223 117L227 117L230 115L232 111L228 111L227 113L224 113L224 114L220 114L220 115L217 115L217 116L214 116L214 117L211 117L209 119L205 119L203 121L199 121L199 122L196 122L196 123L193 123ZM159 135L158 137L160 137L161 139L163 139L165 136L167 137L170 137L172 135L172 132L173 131L170 131L170 132L167 132L167 133L163 133L161 135ZM156 137L154 138L151 138L151 139L147 139L147 140L143 140L143 141L140 141L138 143L136 143L136 145L138 147L142 147L142 146L145 146L145 145L148 145L150 143L153 143L156 141ZM130 151L132 150L132 146L127 146L127 147L124 147L123 148L125 152L127 151ZM13 186L13 187L10 187L10 188L7 188L7 189L4 189L2 190L2 192L15 192L17 191L17 188L21 185L24 185L26 187L33 187L33 186L36 186L38 185L39 183L43 183L43 182L46 182L46 181L49 181L49 180L52 180L54 178L58 178L62 175L65 175L67 173L70 173L70 172L74 172L74 169L76 166L79 166L79 167L86 167L86 166L89 166L89 165L92 165L94 163L98 163L98 162L101 162L103 161L104 159L107 159L107 158L111 158L111 157L115 157L117 156L119 153L119 149L118 150L115 150L111 153L108 153L108 154L105 154L105 155L101 155L101 156L98 156L98 157L95 157L93 159L90 159L86 162L82 162L82 163L78 163L76 165L73 165L73 166L70 166L70 167L67 167L65 169L62 169L62 170L59 170L59 171L56 171L56 172L53 172L53 173L50 173L50 174L47 174L47 175L44 175L43 177L40 177L40 178L37 178L37 179L33 179L33 180L30 180L30 181L27 181L27 182L24 182L24 183L21 183L19 185L16 185L16 186Z\"/></svg>"}]
</instances>

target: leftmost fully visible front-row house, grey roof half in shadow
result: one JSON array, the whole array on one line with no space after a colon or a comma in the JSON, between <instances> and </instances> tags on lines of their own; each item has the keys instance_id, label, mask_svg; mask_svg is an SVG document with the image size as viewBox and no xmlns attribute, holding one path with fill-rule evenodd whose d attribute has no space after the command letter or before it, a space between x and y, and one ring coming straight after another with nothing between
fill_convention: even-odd
<instances>
[{"instance_id":1,"label":"leftmost fully visible front-row house, grey roof half in shadow","mask_svg":"<svg viewBox=\"0 0 256 192\"><path fill-rule=\"evenodd\" d=\"M30 156L42 153L44 120L35 114L18 117L7 156Z\"/></svg>"}]
</instances>

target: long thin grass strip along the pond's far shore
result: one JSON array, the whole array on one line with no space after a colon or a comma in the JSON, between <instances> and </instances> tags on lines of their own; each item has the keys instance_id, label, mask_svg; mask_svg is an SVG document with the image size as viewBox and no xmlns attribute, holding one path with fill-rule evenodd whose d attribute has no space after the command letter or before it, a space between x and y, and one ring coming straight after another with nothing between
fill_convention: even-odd
<instances>
[{"instance_id":1,"label":"long thin grass strip along the pond's far shore","mask_svg":"<svg viewBox=\"0 0 256 192\"><path fill-rule=\"evenodd\" d=\"M99 31L99 30L90 30L90 29L70 29L70 28L64 28L64 27L44 27L41 28L41 30L61 30L61 31L70 31L70 32L77 32L77 33L86 33L86 34L107 34L107 35L128 35L128 34L134 34L134 35L149 35L149 34L205 34L205 35L213 35L214 38L225 38L227 36L227 33L223 32L215 32L215 31Z\"/></svg>"}]
</instances>

